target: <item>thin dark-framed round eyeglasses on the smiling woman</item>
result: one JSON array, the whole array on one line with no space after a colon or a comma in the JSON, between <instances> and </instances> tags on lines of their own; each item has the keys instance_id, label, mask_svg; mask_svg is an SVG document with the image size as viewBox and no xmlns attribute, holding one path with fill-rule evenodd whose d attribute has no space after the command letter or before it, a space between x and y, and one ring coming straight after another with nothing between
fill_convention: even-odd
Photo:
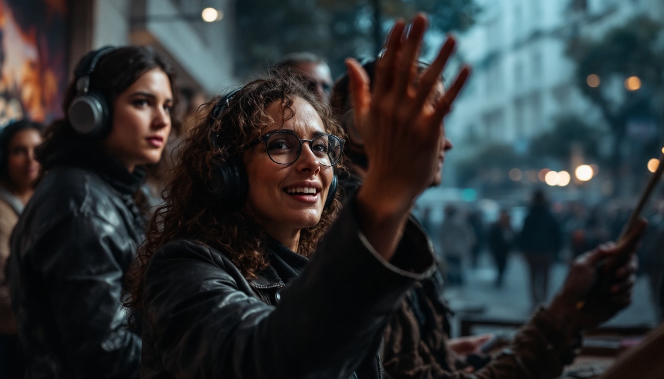
<instances>
[{"instance_id":1,"label":"thin dark-framed round eyeglasses on the smiling woman","mask_svg":"<svg viewBox=\"0 0 664 379\"><path fill-rule=\"evenodd\" d=\"M290 165L297 161L305 142L309 143L318 163L323 166L331 167L339 163L343 152L343 139L332 134L321 134L313 139L302 139L297 137L293 131L278 130L261 135L258 141L249 146L261 141L265 143L270 159L280 165Z\"/></svg>"}]
</instances>

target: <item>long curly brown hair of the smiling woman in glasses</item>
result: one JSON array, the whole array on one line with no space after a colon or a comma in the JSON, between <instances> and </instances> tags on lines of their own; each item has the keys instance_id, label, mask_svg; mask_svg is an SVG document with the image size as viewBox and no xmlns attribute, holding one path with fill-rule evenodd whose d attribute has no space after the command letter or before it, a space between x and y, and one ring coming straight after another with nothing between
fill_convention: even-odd
<instances>
[{"instance_id":1,"label":"long curly brown hair of the smiling woman in glasses","mask_svg":"<svg viewBox=\"0 0 664 379\"><path fill-rule=\"evenodd\" d=\"M315 108L328 133L344 137L329 106L318 102L301 78L288 71L272 72L246 84L216 118L212 117L214 108L220 100L226 102L226 98L213 99L205 112L200 112L197 126L179 147L179 164L163 192L165 202L151 218L137 260L125 275L131 295L125 306L142 309L147 265L161 246L177 238L196 240L222 250L246 279L256 278L256 273L268 266L266 232L242 208L216 200L207 183L220 165L229 159L239 159L260 137L263 127L274 123L266 113L270 104L281 102L286 120L295 115L295 98L303 98ZM335 167L337 171L341 169L341 164ZM301 230L299 254L313 253L340 208L341 202L335 198L333 204L323 210L318 224Z\"/></svg>"}]
</instances>

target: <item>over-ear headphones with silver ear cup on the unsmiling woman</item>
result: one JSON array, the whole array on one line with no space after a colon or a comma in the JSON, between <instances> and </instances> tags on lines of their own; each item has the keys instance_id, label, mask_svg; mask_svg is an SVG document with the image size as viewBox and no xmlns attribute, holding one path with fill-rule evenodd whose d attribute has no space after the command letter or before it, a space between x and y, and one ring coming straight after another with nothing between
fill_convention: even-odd
<instances>
[{"instance_id":1,"label":"over-ear headphones with silver ear cup on the unsmiling woman","mask_svg":"<svg viewBox=\"0 0 664 379\"><path fill-rule=\"evenodd\" d=\"M88 52L76 66L76 97L69 106L69 123L76 133L101 138L111 131L110 109L101 92L90 88L90 75L100 58L116 48L104 46Z\"/></svg>"}]
</instances>

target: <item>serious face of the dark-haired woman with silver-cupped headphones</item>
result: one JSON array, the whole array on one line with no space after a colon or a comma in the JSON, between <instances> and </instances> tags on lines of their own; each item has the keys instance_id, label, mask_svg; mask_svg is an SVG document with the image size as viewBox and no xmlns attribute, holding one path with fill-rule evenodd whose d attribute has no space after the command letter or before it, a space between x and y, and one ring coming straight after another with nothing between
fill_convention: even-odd
<instances>
[{"instance_id":1,"label":"serious face of the dark-haired woman with silver-cupped headphones","mask_svg":"<svg viewBox=\"0 0 664 379\"><path fill-rule=\"evenodd\" d=\"M168 76L159 68L145 72L116 98L111 133L102 145L129 171L158 163L171 133L172 108Z\"/></svg>"}]
</instances>

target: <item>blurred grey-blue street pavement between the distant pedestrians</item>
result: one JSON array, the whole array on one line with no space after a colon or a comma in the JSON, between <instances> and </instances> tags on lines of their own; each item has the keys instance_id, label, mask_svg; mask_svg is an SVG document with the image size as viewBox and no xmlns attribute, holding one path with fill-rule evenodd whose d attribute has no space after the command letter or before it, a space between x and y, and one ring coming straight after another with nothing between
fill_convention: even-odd
<instances>
[{"instance_id":1,"label":"blurred grey-blue street pavement between the distant pedestrians","mask_svg":"<svg viewBox=\"0 0 664 379\"><path fill-rule=\"evenodd\" d=\"M459 333L459 319L464 315L505 321L525 321L531 315L527 265L521 254L509 256L503 287L494 286L496 270L487 252L479 257L477 268L465 265L465 285L446 289L445 298L455 312L453 335ZM558 262L552 269L548 299L565 279L567 265ZM655 309L650 301L647 279L639 276L635 285L632 304L606 325L648 326L657 324Z\"/></svg>"}]
</instances>

